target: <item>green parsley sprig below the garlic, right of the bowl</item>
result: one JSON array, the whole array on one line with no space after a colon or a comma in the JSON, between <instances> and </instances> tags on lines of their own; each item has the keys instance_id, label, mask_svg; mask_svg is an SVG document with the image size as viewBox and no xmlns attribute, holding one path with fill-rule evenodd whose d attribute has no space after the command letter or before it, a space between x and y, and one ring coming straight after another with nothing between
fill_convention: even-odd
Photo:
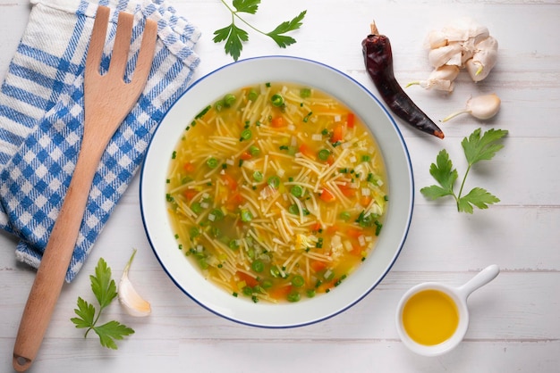
<instances>
[{"instance_id":1,"label":"green parsley sprig below the garlic, right of the bowl","mask_svg":"<svg viewBox=\"0 0 560 373\"><path fill-rule=\"evenodd\" d=\"M437 154L436 163L432 163L429 168L430 175L436 179L439 186L433 185L430 187L423 187L420 193L429 199L435 200L446 195L453 195L457 203L457 210L459 212L472 213L473 207L479 209L488 209L488 204L500 202L496 195L490 194L486 189L481 187L474 187L471 191L462 195L462 190L465 186L465 180L469 175L472 165L479 161L489 161L494 158L496 152L504 147L498 144L498 140L507 135L505 129L488 129L484 135L480 136L481 129L475 129L469 137L463 138L461 145L467 159L468 167L462 178L459 193L455 194L454 184L459 174L453 167L453 162L449 159L449 154L445 149Z\"/></svg>"}]
</instances>

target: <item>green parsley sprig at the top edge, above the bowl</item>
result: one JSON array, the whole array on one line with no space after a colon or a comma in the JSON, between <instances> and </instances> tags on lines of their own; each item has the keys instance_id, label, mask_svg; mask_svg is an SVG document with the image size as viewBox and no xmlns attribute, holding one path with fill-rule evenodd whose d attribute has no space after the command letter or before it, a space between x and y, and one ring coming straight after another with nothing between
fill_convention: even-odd
<instances>
[{"instance_id":1,"label":"green parsley sprig at the top edge, above the bowl","mask_svg":"<svg viewBox=\"0 0 560 373\"><path fill-rule=\"evenodd\" d=\"M285 48L296 41L293 37L289 37L284 34L293 31L294 29L299 29L302 25L301 21L303 21L305 13L307 12L303 11L294 17L292 21L284 21L280 23L276 29L273 29L270 32L264 32L252 26L248 21L242 19L240 15L240 13L255 14L259 10L260 0L233 0L234 9L225 3L225 0L221 1L222 4L224 4L225 7L232 13L232 23L224 29L216 29L216 31L214 31L215 37L213 40L215 43L225 41L225 53L230 54L234 61L237 61L242 53L243 42L249 40L249 33L246 30L237 27L235 24L236 19L242 21L249 26L250 29L257 31L259 34L271 37L278 46Z\"/></svg>"}]
</instances>

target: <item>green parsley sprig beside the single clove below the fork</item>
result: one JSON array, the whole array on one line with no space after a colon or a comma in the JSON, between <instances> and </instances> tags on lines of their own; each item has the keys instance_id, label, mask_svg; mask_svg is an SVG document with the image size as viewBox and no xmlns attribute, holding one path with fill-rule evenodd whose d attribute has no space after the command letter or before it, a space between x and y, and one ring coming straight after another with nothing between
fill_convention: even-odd
<instances>
[{"instance_id":1,"label":"green parsley sprig beside the single clove below the fork","mask_svg":"<svg viewBox=\"0 0 560 373\"><path fill-rule=\"evenodd\" d=\"M99 336L99 342L102 346L116 350L115 339L121 340L123 336L130 336L134 333L134 330L115 320L97 325L99 316L113 302L117 293L115 280L111 278L111 269L107 267L103 258L99 259L95 273L95 276L89 276L89 279L91 280L91 291L95 294L99 303L98 313L96 314L96 308L93 304L78 297L78 308L74 309L78 317L71 320L77 328L88 329L84 338L88 336L89 330L93 330Z\"/></svg>"}]
</instances>

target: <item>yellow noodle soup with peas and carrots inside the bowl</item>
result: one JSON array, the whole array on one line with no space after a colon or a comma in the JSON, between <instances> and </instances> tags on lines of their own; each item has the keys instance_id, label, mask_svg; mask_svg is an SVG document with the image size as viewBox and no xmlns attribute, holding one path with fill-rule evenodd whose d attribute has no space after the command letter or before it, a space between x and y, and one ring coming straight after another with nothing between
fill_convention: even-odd
<instances>
[{"instance_id":1,"label":"yellow noodle soup with peas and carrots inside the bowl","mask_svg":"<svg viewBox=\"0 0 560 373\"><path fill-rule=\"evenodd\" d=\"M344 104L264 83L199 112L176 145L166 198L177 245L205 278L253 302L334 291L383 226L381 153Z\"/></svg>"}]
</instances>

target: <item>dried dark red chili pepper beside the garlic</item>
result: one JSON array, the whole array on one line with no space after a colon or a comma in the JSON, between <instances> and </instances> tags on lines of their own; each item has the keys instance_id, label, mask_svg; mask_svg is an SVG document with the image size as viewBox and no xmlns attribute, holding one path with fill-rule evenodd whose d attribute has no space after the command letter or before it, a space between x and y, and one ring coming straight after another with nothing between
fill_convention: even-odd
<instances>
[{"instance_id":1,"label":"dried dark red chili pepper beside the garlic","mask_svg":"<svg viewBox=\"0 0 560 373\"><path fill-rule=\"evenodd\" d=\"M391 43L385 35L378 35L375 23L371 24L371 34L361 42L366 70L369 78L378 88L379 94L392 112L412 127L430 135L444 138L444 133L426 113L412 102L395 79Z\"/></svg>"}]
</instances>

